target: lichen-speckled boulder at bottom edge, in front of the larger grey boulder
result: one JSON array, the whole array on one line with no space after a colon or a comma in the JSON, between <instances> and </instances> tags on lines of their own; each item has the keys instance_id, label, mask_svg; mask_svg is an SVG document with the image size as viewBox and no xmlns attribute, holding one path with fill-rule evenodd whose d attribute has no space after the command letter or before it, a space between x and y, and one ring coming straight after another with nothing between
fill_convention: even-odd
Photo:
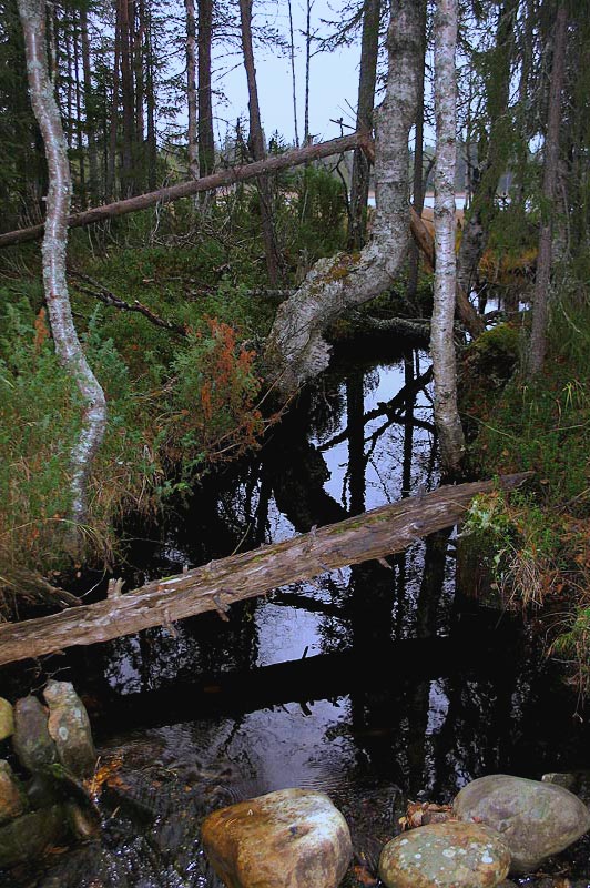
<instances>
[{"instance_id":1,"label":"lichen-speckled boulder at bottom edge, in front of the larger grey boulder","mask_svg":"<svg viewBox=\"0 0 590 888\"><path fill-rule=\"evenodd\" d=\"M429 824L388 841L379 877L388 888L494 888L508 874L510 852L477 824Z\"/></svg>"}]
</instances>

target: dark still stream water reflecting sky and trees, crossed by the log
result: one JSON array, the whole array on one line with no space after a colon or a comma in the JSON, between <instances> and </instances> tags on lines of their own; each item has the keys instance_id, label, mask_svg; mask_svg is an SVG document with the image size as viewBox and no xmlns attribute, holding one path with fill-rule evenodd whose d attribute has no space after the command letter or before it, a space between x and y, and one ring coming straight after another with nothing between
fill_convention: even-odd
<instances>
[{"instance_id":1,"label":"dark still stream water reflecting sky and trees, crossed by the log","mask_svg":"<svg viewBox=\"0 0 590 888\"><path fill-rule=\"evenodd\" d=\"M128 588L436 487L430 385L417 351L335 371L258 453L205 480L164 541L132 544ZM455 533L435 534L388 567L234 606L227 623L205 614L48 658L85 695L103 761L122 758L123 789L100 844L0 875L0 888L213 888L199 817L289 786L332 796L372 870L408 798L586 769L576 699L530 626L456 589L455 555ZM578 857L577 885L590 884Z\"/></svg>"}]
</instances>

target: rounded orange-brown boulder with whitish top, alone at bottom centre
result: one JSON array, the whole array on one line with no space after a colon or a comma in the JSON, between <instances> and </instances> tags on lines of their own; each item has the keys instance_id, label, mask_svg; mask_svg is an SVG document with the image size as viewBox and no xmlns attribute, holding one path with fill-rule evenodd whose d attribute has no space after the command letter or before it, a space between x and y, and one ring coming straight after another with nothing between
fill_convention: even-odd
<instances>
[{"instance_id":1,"label":"rounded orange-brown boulder with whitish top, alone at bottom centre","mask_svg":"<svg viewBox=\"0 0 590 888\"><path fill-rule=\"evenodd\" d=\"M203 845L228 888L336 888L353 855L346 820L328 796L281 789L214 811Z\"/></svg>"}]
</instances>

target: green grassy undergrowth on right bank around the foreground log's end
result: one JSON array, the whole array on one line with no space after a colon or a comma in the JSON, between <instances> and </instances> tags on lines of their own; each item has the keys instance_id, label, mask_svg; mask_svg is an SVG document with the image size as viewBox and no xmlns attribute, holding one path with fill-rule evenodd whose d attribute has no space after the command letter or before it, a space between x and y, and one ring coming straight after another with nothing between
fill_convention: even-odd
<instances>
[{"instance_id":1,"label":"green grassy undergrowth on right bank around the foreground log's end","mask_svg":"<svg viewBox=\"0 0 590 888\"><path fill-rule=\"evenodd\" d=\"M464 408L475 433L478 472L530 471L526 493L477 497L465 526L485 553L503 603L543 607L549 649L570 665L580 693L590 693L590 311L562 300L553 307L550 350L540 377L525 380L515 344L497 329L471 347L472 380ZM489 335L489 334L486 334ZM498 362L498 341L503 351ZM479 350L479 354L477 353ZM492 360L494 359L494 360ZM498 366L513 375L506 382ZM478 369L481 374L478 375ZM509 373L506 373L509 376ZM487 380L486 380L487 376ZM559 618L553 615L559 614ZM568 616L563 616L567 614Z\"/></svg>"}]
</instances>

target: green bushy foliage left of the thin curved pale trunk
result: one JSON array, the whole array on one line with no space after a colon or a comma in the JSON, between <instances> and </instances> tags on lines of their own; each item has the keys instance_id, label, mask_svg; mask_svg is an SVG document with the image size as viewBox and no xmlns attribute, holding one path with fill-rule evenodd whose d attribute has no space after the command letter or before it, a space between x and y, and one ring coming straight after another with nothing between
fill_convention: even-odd
<instances>
[{"instance_id":1,"label":"green bushy foliage left of the thin curved pale trunk","mask_svg":"<svg viewBox=\"0 0 590 888\"><path fill-rule=\"evenodd\" d=\"M4 296L4 293L1 293ZM0 316L0 558L29 566L59 559L53 539L70 507L68 458L80 404L51 342L43 314L27 302Z\"/></svg>"}]
</instances>

